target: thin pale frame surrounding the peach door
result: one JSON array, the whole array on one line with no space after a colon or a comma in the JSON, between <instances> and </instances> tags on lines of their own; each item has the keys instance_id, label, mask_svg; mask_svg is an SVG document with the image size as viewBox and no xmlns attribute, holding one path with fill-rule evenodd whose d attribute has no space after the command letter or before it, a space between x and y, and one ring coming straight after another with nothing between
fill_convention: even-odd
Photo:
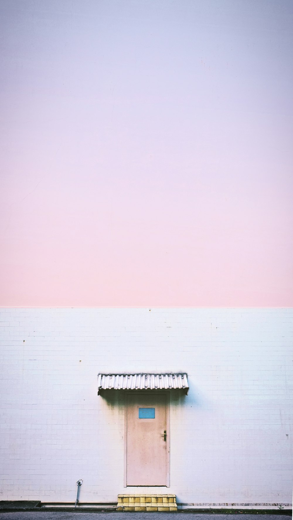
<instances>
[{"instance_id":1,"label":"thin pale frame surrounding the peach door","mask_svg":"<svg viewBox=\"0 0 293 520\"><path fill-rule=\"evenodd\" d=\"M127 396L128 395L166 395L166 486L127 486ZM142 392L132 390L131 392L124 393L124 487L170 487L170 392L165 390L148 391Z\"/></svg>"}]
</instances>

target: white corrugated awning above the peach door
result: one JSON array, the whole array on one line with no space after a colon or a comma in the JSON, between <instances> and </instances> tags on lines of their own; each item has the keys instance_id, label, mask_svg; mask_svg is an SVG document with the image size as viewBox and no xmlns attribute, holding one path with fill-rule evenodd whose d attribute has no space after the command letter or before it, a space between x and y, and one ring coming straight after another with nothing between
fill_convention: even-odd
<instances>
[{"instance_id":1,"label":"white corrugated awning above the peach door","mask_svg":"<svg viewBox=\"0 0 293 520\"><path fill-rule=\"evenodd\" d=\"M170 390L189 391L187 373L167 374L98 374L98 394L101 390Z\"/></svg>"}]
</instances>

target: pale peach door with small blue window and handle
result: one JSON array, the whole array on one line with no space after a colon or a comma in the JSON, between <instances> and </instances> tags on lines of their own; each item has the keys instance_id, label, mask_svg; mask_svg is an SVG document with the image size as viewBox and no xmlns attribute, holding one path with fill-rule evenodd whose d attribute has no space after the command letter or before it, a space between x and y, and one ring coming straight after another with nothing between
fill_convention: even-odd
<instances>
[{"instance_id":1,"label":"pale peach door with small blue window and handle","mask_svg":"<svg viewBox=\"0 0 293 520\"><path fill-rule=\"evenodd\" d=\"M166 405L166 394L127 396L127 486L167 486Z\"/></svg>"}]
</instances>

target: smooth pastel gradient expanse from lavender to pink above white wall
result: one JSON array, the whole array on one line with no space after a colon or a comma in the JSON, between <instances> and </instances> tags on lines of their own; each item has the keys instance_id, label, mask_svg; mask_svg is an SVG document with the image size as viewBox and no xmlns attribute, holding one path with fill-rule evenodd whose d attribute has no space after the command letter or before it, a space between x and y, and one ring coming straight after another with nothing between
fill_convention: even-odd
<instances>
[{"instance_id":1,"label":"smooth pastel gradient expanse from lavender to pink above white wall","mask_svg":"<svg viewBox=\"0 0 293 520\"><path fill-rule=\"evenodd\" d=\"M0 305L292 306L292 1L0 10Z\"/></svg>"}]
</instances>

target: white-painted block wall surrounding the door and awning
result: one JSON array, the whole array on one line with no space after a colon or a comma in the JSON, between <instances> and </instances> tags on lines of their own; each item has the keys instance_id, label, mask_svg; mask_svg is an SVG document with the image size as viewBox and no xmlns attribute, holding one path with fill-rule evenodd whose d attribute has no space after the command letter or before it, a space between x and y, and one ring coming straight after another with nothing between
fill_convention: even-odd
<instances>
[{"instance_id":1,"label":"white-painted block wall surrounding the door and awning","mask_svg":"<svg viewBox=\"0 0 293 520\"><path fill-rule=\"evenodd\" d=\"M74 501L82 478L82 502L116 501L126 492L124 395L98 396L98 372L187 371L189 395L170 400L167 492L183 503L291 502L293 309L0 316L1 500Z\"/></svg>"}]
</instances>

